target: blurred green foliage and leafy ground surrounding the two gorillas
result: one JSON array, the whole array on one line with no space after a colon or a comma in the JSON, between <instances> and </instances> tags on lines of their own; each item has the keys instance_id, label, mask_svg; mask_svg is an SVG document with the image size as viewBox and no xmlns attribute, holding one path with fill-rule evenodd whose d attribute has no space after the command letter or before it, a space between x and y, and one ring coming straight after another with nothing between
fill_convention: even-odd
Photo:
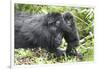
<instances>
[{"instance_id":1,"label":"blurred green foliage and leafy ground surrounding the two gorillas","mask_svg":"<svg viewBox=\"0 0 100 69\"><path fill-rule=\"evenodd\" d=\"M15 4L15 11L27 13L49 13L49 12L71 12L76 20L80 34L80 46L77 50L83 54L83 59L79 60L73 56L55 57L52 53L46 53L44 49L15 49L15 64L53 64L67 62L83 62L94 60L94 8L92 7L71 7L71 6L51 6L33 4ZM62 40L61 47L65 47L66 42Z\"/></svg>"}]
</instances>

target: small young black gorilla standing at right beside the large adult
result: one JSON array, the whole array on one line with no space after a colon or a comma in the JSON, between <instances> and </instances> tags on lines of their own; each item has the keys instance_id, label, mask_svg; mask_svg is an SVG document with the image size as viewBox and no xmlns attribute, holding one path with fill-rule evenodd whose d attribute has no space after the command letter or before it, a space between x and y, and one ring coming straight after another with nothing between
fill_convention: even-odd
<instances>
[{"instance_id":1,"label":"small young black gorilla standing at right beside the large adult","mask_svg":"<svg viewBox=\"0 0 100 69\"><path fill-rule=\"evenodd\" d=\"M69 12L63 14L63 17L64 17L66 24L72 29L70 32L67 32L67 33L63 32L63 37L65 38L66 42L68 43L67 49L66 49L66 54L78 56L78 58L82 59L82 54L78 53L75 49L77 46L79 46L79 34L77 31L74 17Z\"/></svg>"}]
</instances>

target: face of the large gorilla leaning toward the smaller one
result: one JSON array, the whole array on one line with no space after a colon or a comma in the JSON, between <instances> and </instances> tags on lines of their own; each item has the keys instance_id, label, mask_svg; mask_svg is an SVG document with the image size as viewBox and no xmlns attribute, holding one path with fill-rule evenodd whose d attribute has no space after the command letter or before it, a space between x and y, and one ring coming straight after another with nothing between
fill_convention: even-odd
<instances>
[{"instance_id":1,"label":"face of the large gorilla leaning toward the smaller one","mask_svg":"<svg viewBox=\"0 0 100 69\"><path fill-rule=\"evenodd\" d=\"M49 13L47 15L47 26L51 33L57 33L61 30L61 23L63 23L60 13Z\"/></svg>"}]
</instances>

